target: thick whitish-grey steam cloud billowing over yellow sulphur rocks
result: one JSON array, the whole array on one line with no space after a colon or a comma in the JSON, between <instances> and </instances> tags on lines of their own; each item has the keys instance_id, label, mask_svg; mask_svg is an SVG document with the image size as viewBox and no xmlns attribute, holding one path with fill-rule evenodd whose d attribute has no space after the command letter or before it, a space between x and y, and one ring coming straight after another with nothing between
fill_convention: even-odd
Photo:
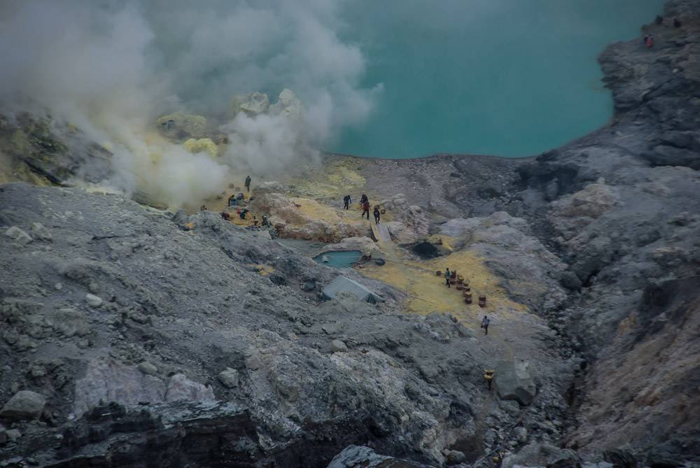
<instances>
[{"instance_id":1,"label":"thick whitish-grey steam cloud billowing over yellow sulphur rocks","mask_svg":"<svg viewBox=\"0 0 700 468\"><path fill-rule=\"evenodd\" d=\"M194 204L238 171L312 157L367 117L380 87L360 87L365 59L344 27L339 0L3 1L0 113L46 108L114 153L105 184ZM234 118L235 94L275 101L283 88L302 101L299 118ZM225 156L163 139L155 120L176 111L228 134Z\"/></svg>"}]
</instances>

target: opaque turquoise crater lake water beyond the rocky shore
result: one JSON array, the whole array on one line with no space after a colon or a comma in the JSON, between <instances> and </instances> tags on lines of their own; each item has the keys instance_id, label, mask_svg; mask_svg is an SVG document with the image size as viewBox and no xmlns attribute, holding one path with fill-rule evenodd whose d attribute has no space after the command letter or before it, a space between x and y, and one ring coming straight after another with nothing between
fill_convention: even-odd
<instances>
[{"instance_id":1,"label":"opaque turquoise crater lake water beyond the rocky shore","mask_svg":"<svg viewBox=\"0 0 700 468\"><path fill-rule=\"evenodd\" d=\"M596 57L640 37L663 0L349 2L344 40L382 83L362 126L332 148L367 157L529 156L612 116Z\"/></svg>"}]
</instances>

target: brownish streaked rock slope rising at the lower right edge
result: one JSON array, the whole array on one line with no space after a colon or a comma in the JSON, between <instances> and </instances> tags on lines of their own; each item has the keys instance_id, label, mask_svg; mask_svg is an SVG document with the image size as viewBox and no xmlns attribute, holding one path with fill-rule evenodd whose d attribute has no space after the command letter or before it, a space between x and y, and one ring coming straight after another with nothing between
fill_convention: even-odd
<instances>
[{"instance_id":1,"label":"brownish streaked rock slope rising at the lower right edge","mask_svg":"<svg viewBox=\"0 0 700 468\"><path fill-rule=\"evenodd\" d=\"M700 400L689 388L700 379L700 345L692 331L700 326L699 290L700 276L645 288L642 303L620 322L591 372L576 444L600 449L631 438L641 453L700 455ZM613 430L617 425L624 433ZM594 435L606 429L605 440Z\"/></svg>"}]
</instances>

